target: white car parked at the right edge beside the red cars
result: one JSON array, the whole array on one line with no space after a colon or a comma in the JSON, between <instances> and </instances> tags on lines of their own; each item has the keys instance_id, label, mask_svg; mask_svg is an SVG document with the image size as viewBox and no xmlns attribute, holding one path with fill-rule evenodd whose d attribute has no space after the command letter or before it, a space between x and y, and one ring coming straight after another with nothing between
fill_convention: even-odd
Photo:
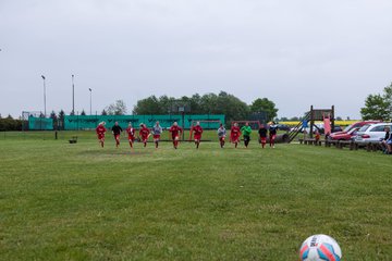
<instances>
[{"instance_id":1,"label":"white car parked at the right edge beside the red cars","mask_svg":"<svg viewBox=\"0 0 392 261\"><path fill-rule=\"evenodd\" d=\"M392 129L392 123L366 124L359 128L354 141L358 144L379 142L385 137L385 127Z\"/></svg>"}]
</instances>

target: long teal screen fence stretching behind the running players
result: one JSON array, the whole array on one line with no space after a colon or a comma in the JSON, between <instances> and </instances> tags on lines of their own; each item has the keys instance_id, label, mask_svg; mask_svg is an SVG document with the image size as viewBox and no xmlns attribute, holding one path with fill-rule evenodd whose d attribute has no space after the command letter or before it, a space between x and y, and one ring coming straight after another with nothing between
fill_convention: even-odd
<instances>
[{"instance_id":1,"label":"long teal screen fence stretching behind the running players","mask_svg":"<svg viewBox=\"0 0 392 261\"><path fill-rule=\"evenodd\" d=\"M138 127L140 123L145 123L147 127L152 127L157 121L159 121L163 128L170 127L173 122L177 122L180 126L184 126L185 128L191 128L193 121L200 121L201 127L209 129L218 128L220 123L224 124L224 115L66 115L64 119L64 129L93 129L96 128L100 122L106 122L108 128L113 126L114 122L119 122L119 125L122 128L126 128L128 123L132 123L134 127Z\"/></svg>"}]
</instances>

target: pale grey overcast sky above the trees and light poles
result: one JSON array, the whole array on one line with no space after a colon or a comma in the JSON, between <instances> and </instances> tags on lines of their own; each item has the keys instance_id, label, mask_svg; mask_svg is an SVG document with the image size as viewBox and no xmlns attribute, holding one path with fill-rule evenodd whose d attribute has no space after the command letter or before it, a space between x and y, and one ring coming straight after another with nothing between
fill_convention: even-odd
<instances>
[{"instance_id":1,"label":"pale grey overcast sky above the trees and light poles","mask_svg":"<svg viewBox=\"0 0 392 261\"><path fill-rule=\"evenodd\" d=\"M392 82L391 0L0 0L0 113L235 95L359 119Z\"/></svg>"}]
</instances>

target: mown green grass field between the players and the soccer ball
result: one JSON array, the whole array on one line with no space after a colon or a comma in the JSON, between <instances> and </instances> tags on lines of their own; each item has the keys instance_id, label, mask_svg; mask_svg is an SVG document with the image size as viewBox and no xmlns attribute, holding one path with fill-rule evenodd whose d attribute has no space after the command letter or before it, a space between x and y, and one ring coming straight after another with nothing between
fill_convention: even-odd
<instances>
[{"instance_id":1,"label":"mown green grass field between the players and the soccer ball","mask_svg":"<svg viewBox=\"0 0 392 261\"><path fill-rule=\"evenodd\" d=\"M78 137L0 140L0 260L292 261L319 233L392 260L390 156Z\"/></svg>"}]
</instances>

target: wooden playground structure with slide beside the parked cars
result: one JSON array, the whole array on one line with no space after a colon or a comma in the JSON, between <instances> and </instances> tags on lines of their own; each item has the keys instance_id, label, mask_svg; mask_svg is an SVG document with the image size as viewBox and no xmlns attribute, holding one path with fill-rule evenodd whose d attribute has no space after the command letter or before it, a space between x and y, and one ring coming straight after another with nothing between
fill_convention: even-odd
<instances>
[{"instance_id":1,"label":"wooden playground structure with slide beside the parked cars","mask_svg":"<svg viewBox=\"0 0 392 261\"><path fill-rule=\"evenodd\" d=\"M330 134L331 129L334 128L334 105L332 105L331 109L314 109L314 107L310 105L310 111L306 112L302 121L289 133L289 142L293 141L299 133L303 133L307 123L310 124L308 135L313 138L314 129L318 129L317 125L315 125L316 121L324 122L326 134Z\"/></svg>"}]
</instances>

